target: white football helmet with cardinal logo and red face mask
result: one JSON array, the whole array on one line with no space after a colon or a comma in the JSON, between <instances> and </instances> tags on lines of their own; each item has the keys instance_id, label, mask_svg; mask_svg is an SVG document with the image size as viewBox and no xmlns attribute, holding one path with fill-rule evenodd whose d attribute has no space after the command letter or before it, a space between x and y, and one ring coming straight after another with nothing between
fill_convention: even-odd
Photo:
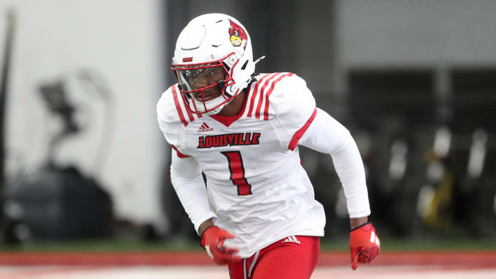
<instances>
[{"instance_id":1,"label":"white football helmet with cardinal logo and red face mask","mask_svg":"<svg viewBox=\"0 0 496 279\"><path fill-rule=\"evenodd\" d=\"M193 76L225 71L225 78L198 88ZM188 109L196 114L217 114L234 96L245 89L255 72L251 40L239 21L226 14L203 14L189 21L180 33L172 70ZM220 96L205 101L203 92L220 88Z\"/></svg>"}]
</instances>

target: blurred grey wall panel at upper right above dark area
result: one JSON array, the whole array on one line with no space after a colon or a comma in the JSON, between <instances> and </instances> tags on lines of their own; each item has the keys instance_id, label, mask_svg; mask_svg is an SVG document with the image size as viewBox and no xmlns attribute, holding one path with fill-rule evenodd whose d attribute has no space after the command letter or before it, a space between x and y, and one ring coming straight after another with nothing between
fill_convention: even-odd
<instances>
[{"instance_id":1,"label":"blurred grey wall panel at upper right above dark area","mask_svg":"<svg viewBox=\"0 0 496 279\"><path fill-rule=\"evenodd\" d=\"M337 0L333 91L346 92L342 70L433 67L448 92L449 66L496 64L496 1Z\"/></svg>"}]
</instances>

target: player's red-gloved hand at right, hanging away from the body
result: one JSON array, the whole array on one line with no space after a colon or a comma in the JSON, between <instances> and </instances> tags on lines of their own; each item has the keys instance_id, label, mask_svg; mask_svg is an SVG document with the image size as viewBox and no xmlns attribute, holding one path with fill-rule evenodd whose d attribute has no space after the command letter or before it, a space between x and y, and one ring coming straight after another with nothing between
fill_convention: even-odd
<instances>
[{"instance_id":1,"label":"player's red-gloved hand at right, hanging away from the body","mask_svg":"<svg viewBox=\"0 0 496 279\"><path fill-rule=\"evenodd\" d=\"M350 231L351 268L357 269L358 262L369 263L380 252L380 240L372 223L365 223Z\"/></svg>"}]
</instances>

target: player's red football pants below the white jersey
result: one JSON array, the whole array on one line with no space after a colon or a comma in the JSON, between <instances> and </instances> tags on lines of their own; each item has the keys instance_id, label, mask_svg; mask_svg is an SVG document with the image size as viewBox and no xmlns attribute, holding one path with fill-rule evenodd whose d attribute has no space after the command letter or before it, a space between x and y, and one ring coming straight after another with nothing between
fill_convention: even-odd
<instances>
[{"instance_id":1,"label":"player's red football pants below the white jersey","mask_svg":"<svg viewBox=\"0 0 496 279\"><path fill-rule=\"evenodd\" d=\"M317 265L318 236L289 236L230 264L231 279L309 279Z\"/></svg>"}]
</instances>

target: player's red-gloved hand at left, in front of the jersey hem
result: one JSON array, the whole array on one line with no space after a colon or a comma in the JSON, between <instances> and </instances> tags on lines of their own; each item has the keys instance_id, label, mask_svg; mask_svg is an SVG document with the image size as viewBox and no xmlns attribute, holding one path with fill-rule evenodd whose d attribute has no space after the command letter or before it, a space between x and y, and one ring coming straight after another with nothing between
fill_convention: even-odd
<instances>
[{"instance_id":1,"label":"player's red-gloved hand at left, in front of the jersey hem","mask_svg":"<svg viewBox=\"0 0 496 279\"><path fill-rule=\"evenodd\" d=\"M234 238L234 234L229 233L224 229L220 229L217 226L211 226L205 231L203 231L203 236L201 239L201 245L207 251L210 258L218 265L225 265L229 262L237 262L241 260L239 256L234 256L234 253L238 252L239 249L224 246L224 242L227 238Z\"/></svg>"}]
</instances>

